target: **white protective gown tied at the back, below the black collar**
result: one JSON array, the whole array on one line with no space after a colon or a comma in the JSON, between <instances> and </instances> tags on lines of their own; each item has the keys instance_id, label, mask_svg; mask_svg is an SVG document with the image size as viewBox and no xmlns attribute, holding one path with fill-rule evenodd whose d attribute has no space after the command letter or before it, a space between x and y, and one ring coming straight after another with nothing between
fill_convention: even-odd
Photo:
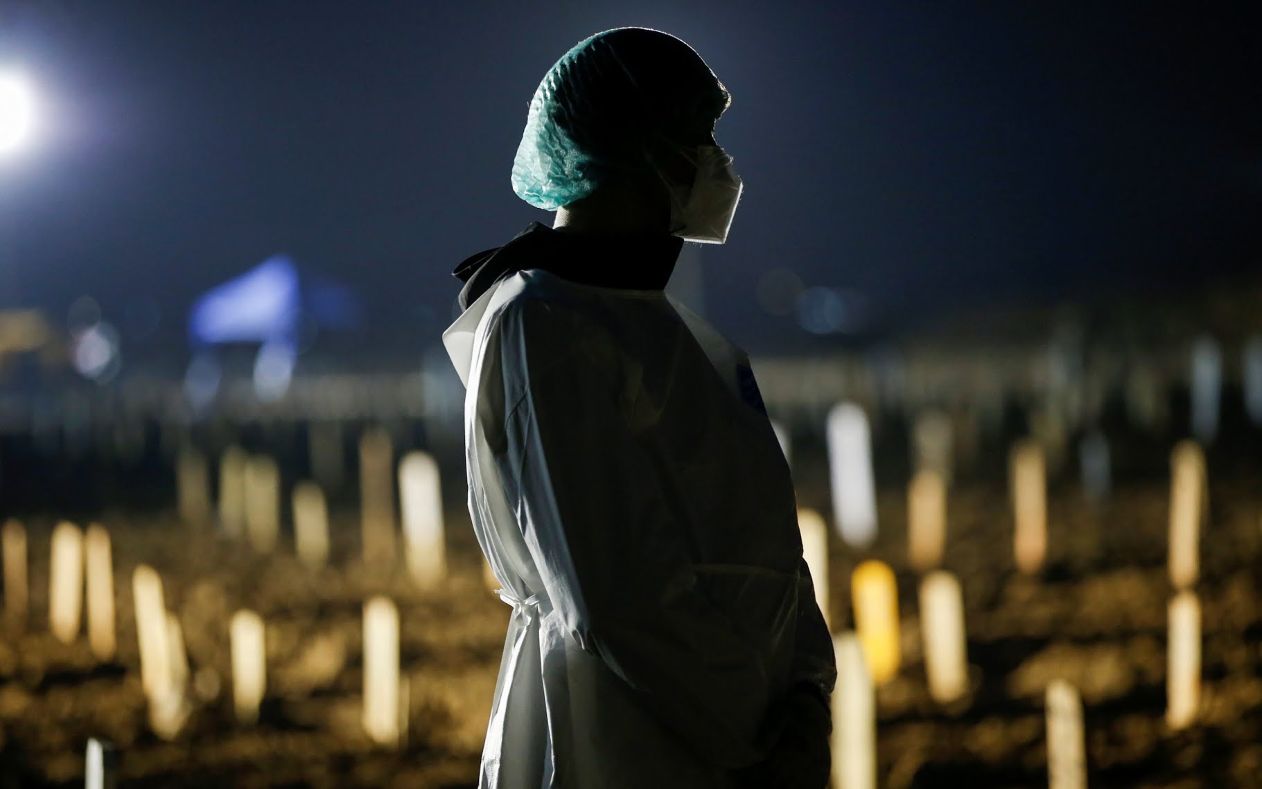
<instances>
[{"instance_id":1,"label":"white protective gown tied at the back, below the black collar","mask_svg":"<svg viewBox=\"0 0 1262 789\"><path fill-rule=\"evenodd\" d=\"M514 612L478 786L734 786L835 678L743 352L663 290L511 273L444 332Z\"/></svg>"}]
</instances>

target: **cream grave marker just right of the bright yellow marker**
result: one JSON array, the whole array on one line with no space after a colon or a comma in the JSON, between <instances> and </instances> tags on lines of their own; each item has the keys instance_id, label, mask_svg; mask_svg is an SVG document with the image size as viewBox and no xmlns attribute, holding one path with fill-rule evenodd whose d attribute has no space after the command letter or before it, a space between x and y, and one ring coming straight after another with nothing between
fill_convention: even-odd
<instances>
[{"instance_id":1,"label":"cream grave marker just right of the bright yellow marker","mask_svg":"<svg viewBox=\"0 0 1262 789\"><path fill-rule=\"evenodd\" d=\"M934 571L920 582L920 631L929 694L950 703L968 689L964 600L955 576Z\"/></svg>"}]
</instances>

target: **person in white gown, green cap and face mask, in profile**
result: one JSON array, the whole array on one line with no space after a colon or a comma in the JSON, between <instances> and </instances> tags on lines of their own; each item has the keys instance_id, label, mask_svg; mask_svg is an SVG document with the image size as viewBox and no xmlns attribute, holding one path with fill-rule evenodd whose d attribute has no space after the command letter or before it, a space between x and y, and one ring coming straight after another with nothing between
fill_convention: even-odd
<instances>
[{"instance_id":1,"label":"person in white gown, green cap and face mask, in profile","mask_svg":"<svg viewBox=\"0 0 1262 789\"><path fill-rule=\"evenodd\" d=\"M684 239L726 240L727 104L665 33L579 43L514 167L555 227L456 270L469 514L512 606L480 788L828 783L787 465L746 355L664 293Z\"/></svg>"}]
</instances>

